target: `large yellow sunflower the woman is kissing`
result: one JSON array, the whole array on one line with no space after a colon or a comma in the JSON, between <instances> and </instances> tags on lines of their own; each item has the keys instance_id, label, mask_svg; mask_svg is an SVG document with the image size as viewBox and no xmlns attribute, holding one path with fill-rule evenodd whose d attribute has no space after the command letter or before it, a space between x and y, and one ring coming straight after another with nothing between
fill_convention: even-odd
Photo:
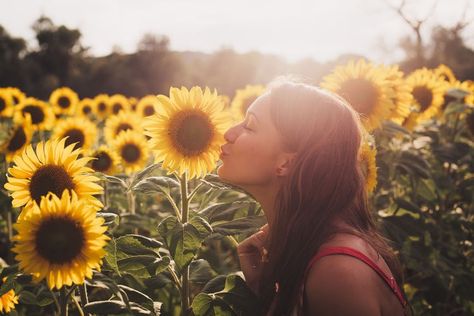
<instances>
[{"instance_id":1,"label":"large yellow sunflower the woman is kissing","mask_svg":"<svg viewBox=\"0 0 474 316\"><path fill-rule=\"evenodd\" d=\"M212 171L230 124L217 92L172 87L170 97L159 95L158 100L157 113L144 123L156 161L163 161L170 173L187 171L190 178Z\"/></svg>"}]
</instances>

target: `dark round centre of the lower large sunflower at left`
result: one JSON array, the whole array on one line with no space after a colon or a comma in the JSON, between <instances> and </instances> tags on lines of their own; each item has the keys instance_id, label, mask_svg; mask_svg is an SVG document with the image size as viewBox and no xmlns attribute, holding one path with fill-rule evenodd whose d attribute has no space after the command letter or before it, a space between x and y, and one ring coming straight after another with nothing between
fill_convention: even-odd
<instances>
[{"instance_id":1,"label":"dark round centre of the lower large sunflower at left","mask_svg":"<svg viewBox=\"0 0 474 316\"><path fill-rule=\"evenodd\" d=\"M66 216L45 219L36 232L35 248L38 254L52 264L74 260L85 244L81 224Z\"/></svg>"}]
</instances>

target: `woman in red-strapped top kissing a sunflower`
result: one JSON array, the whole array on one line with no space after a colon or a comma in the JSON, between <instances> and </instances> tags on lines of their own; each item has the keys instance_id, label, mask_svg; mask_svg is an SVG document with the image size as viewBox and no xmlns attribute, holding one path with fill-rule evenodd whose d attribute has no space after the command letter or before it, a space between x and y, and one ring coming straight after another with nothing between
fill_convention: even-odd
<instances>
[{"instance_id":1,"label":"woman in red-strapped top kissing a sunflower","mask_svg":"<svg viewBox=\"0 0 474 316\"><path fill-rule=\"evenodd\" d=\"M264 314L407 309L399 263L367 205L363 133L342 98L291 81L270 85L226 132L218 174L249 192L268 220L238 247Z\"/></svg>"}]
</instances>

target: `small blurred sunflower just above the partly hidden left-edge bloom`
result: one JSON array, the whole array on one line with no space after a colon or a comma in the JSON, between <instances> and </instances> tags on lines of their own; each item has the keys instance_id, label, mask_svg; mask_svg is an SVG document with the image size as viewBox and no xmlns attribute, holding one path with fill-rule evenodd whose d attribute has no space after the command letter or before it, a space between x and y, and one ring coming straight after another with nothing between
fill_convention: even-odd
<instances>
[{"instance_id":1,"label":"small blurred sunflower just above the partly hidden left-edge bloom","mask_svg":"<svg viewBox=\"0 0 474 316\"><path fill-rule=\"evenodd\" d=\"M15 109L14 119L21 121L27 115L31 116L31 124L35 130L49 130L56 119L51 107L41 100L26 98Z\"/></svg>"}]
</instances>

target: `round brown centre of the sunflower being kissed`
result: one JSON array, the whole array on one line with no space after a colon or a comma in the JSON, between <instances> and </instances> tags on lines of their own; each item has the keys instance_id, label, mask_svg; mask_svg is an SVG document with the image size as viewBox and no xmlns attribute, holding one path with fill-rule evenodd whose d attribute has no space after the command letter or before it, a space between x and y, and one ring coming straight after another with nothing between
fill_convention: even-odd
<instances>
[{"instance_id":1,"label":"round brown centre of the sunflower being kissed","mask_svg":"<svg viewBox=\"0 0 474 316\"><path fill-rule=\"evenodd\" d=\"M202 153L214 136L214 128L201 111L182 111L172 119L169 135L175 148L184 156Z\"/></svg>"}]
</instances>

